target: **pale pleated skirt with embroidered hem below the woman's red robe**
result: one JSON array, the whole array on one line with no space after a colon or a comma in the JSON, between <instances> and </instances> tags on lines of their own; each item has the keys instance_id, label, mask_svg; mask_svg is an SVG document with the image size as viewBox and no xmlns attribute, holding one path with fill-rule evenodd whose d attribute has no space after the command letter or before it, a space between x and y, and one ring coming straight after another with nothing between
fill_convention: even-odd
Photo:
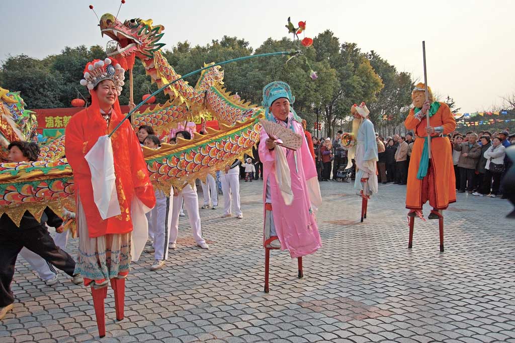
<instances>
[{"instance_id":1,"label":"pale pleated skirt with embroidered hem below the woman's red robe","mask_svg":"<svg viewBox=\"0 0 515 343\"><path fill-rule=\"evenodd\" d=\"M100 288L107 286L112 278L127 277L130 271L132 232L89 237L88 223L80 198L77 201L77 226L79 250L75 274L82 275L84 285L92 284L93 287Z\"/></svg>"}]
</instances>

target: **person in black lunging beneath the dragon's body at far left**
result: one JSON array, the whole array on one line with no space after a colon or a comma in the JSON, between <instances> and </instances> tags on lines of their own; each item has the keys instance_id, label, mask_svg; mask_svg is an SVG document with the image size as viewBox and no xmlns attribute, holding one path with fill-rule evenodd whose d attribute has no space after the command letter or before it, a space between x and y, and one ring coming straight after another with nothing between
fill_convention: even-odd
<instances>
[{"instance_id":1,"label":"person in black lunging beneath the dragon's body at far left","mask_svg":"<svg viewBox=\"0 0 515 343\"><path fill-rule=\"evenodd\" d=\"M8 146L8 150L9 160L16 163L36 160L39 154L39 147L33 142L15 141ZM39 221L29 211L25 211L19 226L6 213L0 217L0 319L12 309L14 265L23 247L63 270L73 278L75 284L83 282L80 274L75 274L75 261L56 246L45 224L55 227L57 232L63 230L62 219L48 207Z\"/></svg>"}]
</instances>

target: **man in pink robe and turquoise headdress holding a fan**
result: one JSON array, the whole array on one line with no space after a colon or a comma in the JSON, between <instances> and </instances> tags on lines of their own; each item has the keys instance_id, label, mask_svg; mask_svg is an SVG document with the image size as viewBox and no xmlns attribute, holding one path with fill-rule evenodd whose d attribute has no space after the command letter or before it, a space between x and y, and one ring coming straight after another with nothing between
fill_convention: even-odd
<instances>
[{"instance_id":1,"label":"man in pink robe and turquoise headdress holding a fan","mask_svg":"<svg viewBox=\"0 0 515 343\"><path fill-rule=\"evenodd\" d=\"M263 129L259 146L264 174L264 242L271 236L277 236L279 242L272 241L270 246L278 248L280 244L281 249L289 250L291 258L313 254L322 246L315 218L315 206L321 204L317 171L307 146L301 119L290 107L294 101L295 97L291 96L289 85L284 82L274 81L263 89L263 106L267 108L266 119L284 125L301 135L301 148L293 151L278 146ZM284 161L281 156L286 157L286 163L279 166L278 164ZM282 168L284 171L286 164L291 187L285 190L281 177L277 176L277 169ZM284 193L289 193L289 200L288 194Z\"/></svg>"}]
</instances>

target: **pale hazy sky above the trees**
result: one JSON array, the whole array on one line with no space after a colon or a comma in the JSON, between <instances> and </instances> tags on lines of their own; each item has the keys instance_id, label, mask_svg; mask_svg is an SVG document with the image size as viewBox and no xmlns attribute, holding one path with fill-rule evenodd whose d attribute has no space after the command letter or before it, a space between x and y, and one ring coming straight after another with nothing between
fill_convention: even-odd
<instances>
[{"instance_id":1,"label":"pale hazy sky above the trees","mask_svg":"<svg viewBox=\"0 0 515 343\"><path fill-rule=\"evenodd\" d=\"M0 59L21 53L43 58L82 44L105 47L108 38L100 36L90 4L99 16L116 15L120 1L2 1ZM330 29L340 42L375 50L398 70L421 80L425 40L433 92L449 94L460 112L475 112L500 105L503 96L515 92L513 13L515 1L510 0L127 0L118 17L150 18L164 25L165 48L185 40L204 45L225 34L244 38L256 48L269 37L284 37L291 16L294 23L307 21L309 37Z\"/></svg>"}]
</instances>

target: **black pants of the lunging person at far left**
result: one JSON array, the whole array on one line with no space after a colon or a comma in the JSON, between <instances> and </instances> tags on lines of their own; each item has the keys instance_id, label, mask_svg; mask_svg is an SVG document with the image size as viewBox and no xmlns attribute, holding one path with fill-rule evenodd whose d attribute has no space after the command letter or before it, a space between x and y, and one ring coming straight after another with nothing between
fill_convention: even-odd
<instances>
[{"instance_id":1,"label":"black pants of the lunging person at far left","mask_svg":"<svg viewBox=\"0 0 515 343\"><path fill-rule=\"evenodd\" d=\"M14 302L11 282L16 258L23 247L35 252L64 273L74 275L75 261L56 246L45 226L15 230L0 227L0 307Z\"/></svg>"}]
</instances>

